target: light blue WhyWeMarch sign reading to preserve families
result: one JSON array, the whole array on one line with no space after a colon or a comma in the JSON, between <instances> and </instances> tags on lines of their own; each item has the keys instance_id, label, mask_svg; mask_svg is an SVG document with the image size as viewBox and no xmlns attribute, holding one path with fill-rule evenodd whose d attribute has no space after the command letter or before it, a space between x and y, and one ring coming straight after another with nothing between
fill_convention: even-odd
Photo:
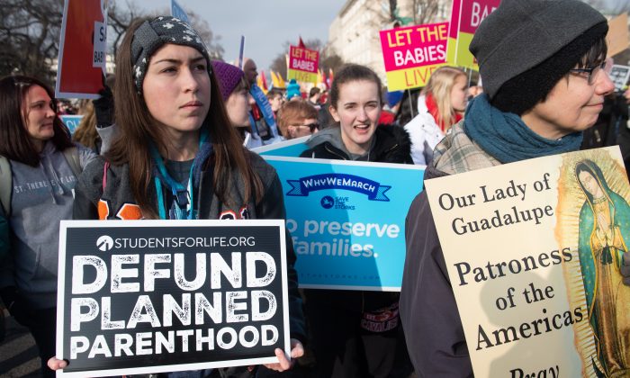
<instances>
[{"instance_id":1,"label":"light blue WhyWeMarch sign reading to preserve families","mask_svg":"<svg viewBox=\"0 0 630 378\"><path fill-rule=\"evenodd\" d=\"M425 166L264 156L284 190L302 288L399 291Z\"/></svg>"}]
</instances>

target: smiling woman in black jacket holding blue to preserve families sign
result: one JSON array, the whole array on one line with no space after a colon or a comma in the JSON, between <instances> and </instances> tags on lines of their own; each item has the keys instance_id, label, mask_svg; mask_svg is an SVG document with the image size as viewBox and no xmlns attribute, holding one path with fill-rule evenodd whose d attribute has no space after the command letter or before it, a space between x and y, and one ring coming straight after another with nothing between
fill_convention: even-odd
<instances>
[{"instance_id":1,"label":"smiling woman in black jacket holding blue to preserve families sign","mask_svg":"<svg viewBox=\"0 0 630 378\"><path fill-rule=\"evenodd\" d=\"M412 164L410 137L377 125L381 80L368 67L347 65L330 89L338 126L307 141L302 157ZM305 290L317 376L398 377L411 372L398 315L398 293Z\"/></svg>"}]
</instances>

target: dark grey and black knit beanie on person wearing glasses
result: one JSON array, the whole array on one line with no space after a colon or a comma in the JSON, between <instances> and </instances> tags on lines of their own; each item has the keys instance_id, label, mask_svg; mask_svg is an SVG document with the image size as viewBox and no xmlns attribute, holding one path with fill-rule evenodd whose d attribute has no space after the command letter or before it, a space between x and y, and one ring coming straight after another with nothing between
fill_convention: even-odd
<instances>
[{"instance_id":1,"label":"dark grey and black knit beanie on person wearing glasses","mask_svg":"<svg viewBox=\"0 0 630 378\"><path fill-rule=\"evenodd\" d=\"M579 0L503 0L470 50L492 105L520 115L544 100L607 32L606 18Z\"/></svg>"}]
</instances>

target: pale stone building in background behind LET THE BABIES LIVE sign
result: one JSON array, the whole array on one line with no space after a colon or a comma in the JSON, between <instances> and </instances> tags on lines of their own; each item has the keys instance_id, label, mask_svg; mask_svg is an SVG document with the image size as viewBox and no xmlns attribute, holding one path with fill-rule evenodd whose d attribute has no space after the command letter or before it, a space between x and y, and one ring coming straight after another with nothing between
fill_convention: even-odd
<instances>
[{"instance_id":1,"label":"pale stone building in background behind LET THE BABIES LIVE sign","mask_svg":"<svg viewBox=\"0 0 630 378\"><path fill-rule=\"evenodd\" d=\"M427 23L451 17L452 0L398 0L399 16L413 18L414 4L437 3L437 14ZM385 83L385 67L379 31L392 28L389 0L347 0L329 27L332 49L347 63L374 69ZM412 23L410 23L412 24Z\"/></svg>"}]
</instances>

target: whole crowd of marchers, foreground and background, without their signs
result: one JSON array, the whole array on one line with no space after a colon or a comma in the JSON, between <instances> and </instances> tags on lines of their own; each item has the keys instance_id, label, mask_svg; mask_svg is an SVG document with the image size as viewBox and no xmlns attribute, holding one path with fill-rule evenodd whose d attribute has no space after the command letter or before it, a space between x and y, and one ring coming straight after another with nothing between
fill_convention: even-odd
<instances>
[{"instance_id":1,"label":"whole crowd of marchers, foreground and background, without their signs","mask_svg":"<svg viewBox=\"0 0 630 378\"><path fill-rule=\"evenodd\" d=\"M302 92L292 80L263 94L253 59L243 69L211 61L196 32L170 16L130 26L115 76L83 104L73 136L48 84L6 76L0 297L30 329L41 373L54 376L67 366L55 356L59 220L120 219L122 206L125 220L285 219L275 169L250 151L283 140L309 137L304 158L427 166L425 180L611 144L627 165L630 90L616 94L608 77L607 31L578 0L503 0L470 47L482 83L440 67L408 119L409 98L386 94L356 64L340 68L329 90ZM401 293L300 292L287 235L291 361L276 349L276 364L166 375L473 376L425 192L411 204L405 237ZM630 267L619 270L630 277ZM296 373L305 351L311 366ZM602 376L630 372L624 361Z\"/></svg>"}]
</instances>

